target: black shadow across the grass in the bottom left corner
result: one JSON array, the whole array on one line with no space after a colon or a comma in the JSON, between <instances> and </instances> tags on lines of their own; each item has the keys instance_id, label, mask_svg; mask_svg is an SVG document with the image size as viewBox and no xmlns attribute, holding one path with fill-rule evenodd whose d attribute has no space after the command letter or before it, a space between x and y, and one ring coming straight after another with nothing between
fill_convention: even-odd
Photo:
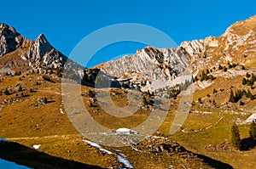
<instances>
[{"instance_id":1,"label":"black shadow across the grass in the bottom left corner","mask_svg":"<svg viewBox=\"0 0 256 169\"><path fill-rule=\"evenodd\" d=\"M94 168L102 169L99 166L90 166L77 161L68 161L60 157L48 155L35 149L28 148L15 142L0 141L0 158L5 161L12 161L18 165L36 169L49 168Z\"/></svg>"}]
</instances>

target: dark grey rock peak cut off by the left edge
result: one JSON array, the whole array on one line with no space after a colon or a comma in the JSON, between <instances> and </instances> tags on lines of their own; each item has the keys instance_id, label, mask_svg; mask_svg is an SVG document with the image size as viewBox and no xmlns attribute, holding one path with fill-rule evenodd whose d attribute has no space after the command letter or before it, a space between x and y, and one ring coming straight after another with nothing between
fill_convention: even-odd
<instances>
[{"instance_id":1,"label":"dark grey rock peak cut off by the left edge","mask_svg":"<svg viewBox=\"0 0 256 169\"><path fill-rule=\"evenodd\" d=\"M0 24L0 57L19 48L23 39L14 27Z\"/></svg>"}]
</instances>

